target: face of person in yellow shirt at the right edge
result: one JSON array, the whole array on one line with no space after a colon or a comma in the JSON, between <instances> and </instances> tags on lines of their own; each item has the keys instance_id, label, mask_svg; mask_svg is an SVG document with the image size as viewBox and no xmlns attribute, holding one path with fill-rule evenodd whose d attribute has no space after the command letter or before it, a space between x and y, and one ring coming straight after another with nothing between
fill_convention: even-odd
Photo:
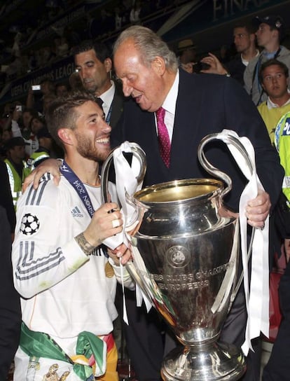
<instances>
[{"instance_id":1,"label":"face of person in yellow shirt at the right edge","mask_svg":"<svg viewBox=\"0 0 290 381\"><path fill-rule=\"evenodd\" d=\"M270 99L288 97L288 78L282 67L279 67L279 65L266 67L263 70L262 78L263 89L267 92Z\"/></svg>"}]
</instances>

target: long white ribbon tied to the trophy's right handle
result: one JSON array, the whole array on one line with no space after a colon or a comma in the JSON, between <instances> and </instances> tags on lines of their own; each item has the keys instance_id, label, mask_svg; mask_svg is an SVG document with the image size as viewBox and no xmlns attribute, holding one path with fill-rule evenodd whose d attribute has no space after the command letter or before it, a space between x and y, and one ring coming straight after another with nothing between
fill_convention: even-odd
<instances>
[{"instance_id":1,"label":"long white ribbon tied to the trophy's right handle","mask_svg":"<svg viewBox=\"0 0 290 381\"><path fill-rule=\"evenodd\" d=\"M252 171L244 159L244 156L230 143L228 139L229 136L235 137L235 139L238 139L240 144L244 146L244 149L249 155ZM255 153L251 141L249 141L247 137L239 137L236 132L231 130L223 130L220 134L217 134L216 139L221 139L227 144L237 165L239 165L242 173L249 181L242 192L239 205L244 293L248 313L246 335L244 344L242 345L242 351L247 355L249 349L253 350L251 339L257 338L261 332L267 337L269 335L269 216L265 221L263 230L258 228L254 229L254 240L251 251L251 281L249 286L247 217L245 216L245 211L249 200L256 198L258 190L264 190L264 188L256 173Z\"/></svg>"}]
</instances>

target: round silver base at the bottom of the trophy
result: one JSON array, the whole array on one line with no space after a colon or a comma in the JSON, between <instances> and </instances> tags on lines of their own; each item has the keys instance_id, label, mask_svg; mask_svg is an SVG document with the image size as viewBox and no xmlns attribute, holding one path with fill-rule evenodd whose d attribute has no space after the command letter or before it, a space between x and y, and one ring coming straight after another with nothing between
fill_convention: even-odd
<instances>
[{"instance_id":1,"label":"round silver base at the bottom of the trophy","mask_svg":"<svg viewBox=\"0 0 290 381\"><path fill-rule=\"evenodd\" d=\"M235 381L245 370L246 362L240 349L214 342L173 349L163 360L161 376L164 381Z\"/></svg>"}]
</instances>

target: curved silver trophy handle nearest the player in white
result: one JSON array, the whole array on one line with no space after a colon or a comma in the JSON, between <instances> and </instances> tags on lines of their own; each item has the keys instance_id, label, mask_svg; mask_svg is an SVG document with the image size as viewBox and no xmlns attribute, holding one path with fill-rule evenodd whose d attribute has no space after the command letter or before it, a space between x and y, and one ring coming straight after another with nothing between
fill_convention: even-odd
<instances>
[{"instance_id":1,"label":"curved silver trophy handle nearest the player in white","mask_svg":"<svg viewBox=\"0 0 290 381\"><path fill-rule=\"evenodd\" d=\"M139 161L140 169L139 169L139 174L136 176L137 184L139 185L143 181L145 173L146 173L146 155L137 143L127 142L127 144L129 144L129 146L130 146L130 153L132 153L132 155L134 157L136 157L137 160ZM108 191L109 169L111 167L111 162L113 160L113 153L117 148L120 148L120 147L118 146L118 147L114 148L113 151L111 151L109 153L108 157L106 158L106 160L104 161L104 163L102 165L101 195L102 195L102 203L103 204L105 202L109 202L109 191ZM132 207L134 207L134 209L137 212L137 216L139 216L138 205L135 205L134 198L132 197L132 195L128 195L127 191L125 191L125 193L126 193L126 200L130 199L130 205ZM134 221L129 221L128 224L130 225L132 223L134 223Z\"/></svg>"}]
</instances>

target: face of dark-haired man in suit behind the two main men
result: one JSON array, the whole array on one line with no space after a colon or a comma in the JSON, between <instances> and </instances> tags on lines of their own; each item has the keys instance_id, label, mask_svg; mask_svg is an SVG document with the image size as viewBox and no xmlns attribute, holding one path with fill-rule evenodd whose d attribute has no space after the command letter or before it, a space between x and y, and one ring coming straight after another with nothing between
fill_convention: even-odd
<instances>
[{"instance_id":1,"label":"face of dark-haired man in suit behind the two main men","mask_svg":"<svg viewBox=\"0 0 290 381\"><path fill-rule=\"evenodd\" d=\"M91 49L75 55L74 61L86 90L92 94L101 95L111 87L109 72L112 65L109 58L100 62L96 57L95 50Z\"/></svg>"}]
</instances>

